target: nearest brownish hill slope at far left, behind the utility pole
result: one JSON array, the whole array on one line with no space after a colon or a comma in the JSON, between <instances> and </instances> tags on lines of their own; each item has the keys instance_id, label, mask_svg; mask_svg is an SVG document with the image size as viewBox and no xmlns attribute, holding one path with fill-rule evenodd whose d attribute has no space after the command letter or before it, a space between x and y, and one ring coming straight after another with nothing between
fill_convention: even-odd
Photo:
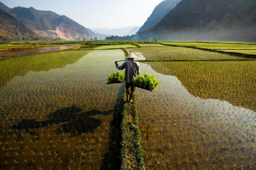
<instances>
[{"instance_id":1,"label":"nearest brownish hill slope at far left, behind the utility pole","mask_svg":"<svg viewBox=\"0 0 256 170\"><path fill-rule=\"evenodd\" d=\"M32 29L0 8L0 41L18 40L14 27L18 27L19 38L35 39L37 37Z\"/></svg>"}]
</instances>

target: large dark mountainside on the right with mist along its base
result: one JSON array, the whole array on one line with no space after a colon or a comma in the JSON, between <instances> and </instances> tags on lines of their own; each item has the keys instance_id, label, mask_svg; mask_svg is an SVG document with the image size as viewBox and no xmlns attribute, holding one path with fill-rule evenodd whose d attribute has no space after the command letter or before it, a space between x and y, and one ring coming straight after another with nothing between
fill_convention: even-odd
<instances>
[{"instance_id":1,"label":"large dark mountainside on the right with mist along its base","mask_svg":"<svg viewBox=\"0 0 256 170\"><path fill-rule=\"evenodd\" d=\"M140 37L256 41L255 0L182 0Z\"/></svg>"}]
</instances>

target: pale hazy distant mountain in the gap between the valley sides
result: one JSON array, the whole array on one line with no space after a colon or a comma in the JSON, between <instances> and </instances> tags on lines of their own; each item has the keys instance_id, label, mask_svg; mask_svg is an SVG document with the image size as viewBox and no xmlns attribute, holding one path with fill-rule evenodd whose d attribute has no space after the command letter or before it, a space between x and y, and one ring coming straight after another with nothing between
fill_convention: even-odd
<instances>
[{"instance_id":1,"label":"pale hazy distant mountain in the gap between the valley sides","mask_svg":"<svg viewBox=\"0 0 256 170\"><path fill-rule=\"evenodd\" d=\"M117 35L117 36L126 36L126 35L133 35L135 34L140 26L131 26L131 27L124 27L124 28L91 28L92 31L98 34L105 34L105 35Z\"/></svg>"}]
</instances>

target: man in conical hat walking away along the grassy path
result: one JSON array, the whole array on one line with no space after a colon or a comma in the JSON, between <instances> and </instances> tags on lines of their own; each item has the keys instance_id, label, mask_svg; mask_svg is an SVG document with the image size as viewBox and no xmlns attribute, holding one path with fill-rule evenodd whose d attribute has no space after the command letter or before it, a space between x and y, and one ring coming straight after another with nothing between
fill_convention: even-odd
<instances>
[{"instance_id":1,"label":"man in conical hat walking away along the grassy path","mask_svg":"<svg viewBox=\"0 0 256 170\"><path fill-rule=\"evenodd\" d=\"M140 66L137 61L134 61L135 58L138 58L134 53L130 53L127 56L127 61L125 61L121 66L118 65L118 61L115 61L116 68L118 70L123 70L125 68L124 80L126 82L126 102L132 102L132 96L135 92L135 86L133 84L133 78L140 74Z\"/></svg>"}]
</instances>

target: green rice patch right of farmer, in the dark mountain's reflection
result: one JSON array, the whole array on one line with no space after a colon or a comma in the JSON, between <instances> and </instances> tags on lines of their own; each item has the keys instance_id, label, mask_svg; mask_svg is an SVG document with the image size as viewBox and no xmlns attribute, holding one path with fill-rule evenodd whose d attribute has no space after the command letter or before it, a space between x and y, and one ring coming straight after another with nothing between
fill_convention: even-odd
<instances>
[{"instance_id":1,"label":"green rice patch right of farmer, in the dark mountain's reflection","mask_svg":"<svg viewBox=\"0 0 256 170\"><path fill-rule=\"evenodd\" d=\"M151 62L161 74L176 76L200 98L226 100L256 111L256 61Z\"/></svg>"}]
</instances>

